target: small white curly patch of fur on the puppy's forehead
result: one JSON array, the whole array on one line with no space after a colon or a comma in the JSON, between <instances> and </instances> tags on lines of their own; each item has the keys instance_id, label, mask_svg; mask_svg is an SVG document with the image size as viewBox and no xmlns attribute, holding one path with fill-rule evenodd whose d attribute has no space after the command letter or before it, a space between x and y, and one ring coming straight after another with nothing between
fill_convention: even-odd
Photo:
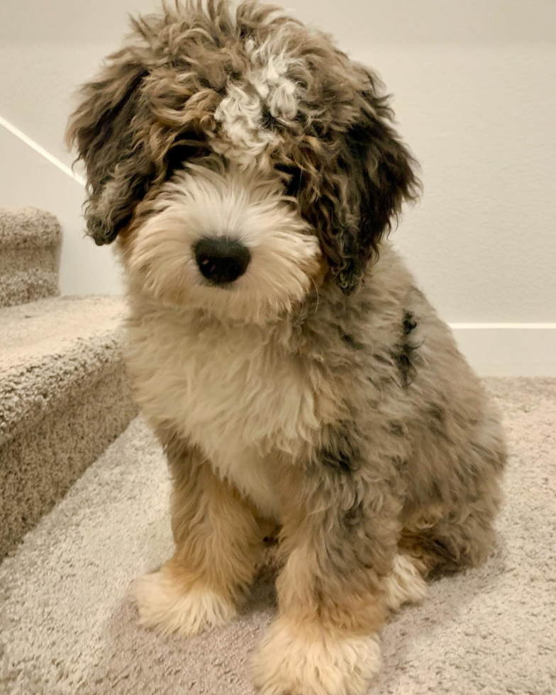
<instances>
[{"instance_id":1,"label":"small white curly patch of fur on the puppy's forehead","mask_svg":"<svg viewBox=\"0 0 556 695\"><path fill-rule=\"evenodd\" d=\"M256 46L250 40L245 48L251 61L250 70L240 83L230 83L228 94L214 114L222 124L213 140L213 149L241 165L249 165L279 137L263 126L263 112L283 123L294 121L298 111L296 84L287 77L294 59L271 41Z\"/></svg>"}]
</instances>

